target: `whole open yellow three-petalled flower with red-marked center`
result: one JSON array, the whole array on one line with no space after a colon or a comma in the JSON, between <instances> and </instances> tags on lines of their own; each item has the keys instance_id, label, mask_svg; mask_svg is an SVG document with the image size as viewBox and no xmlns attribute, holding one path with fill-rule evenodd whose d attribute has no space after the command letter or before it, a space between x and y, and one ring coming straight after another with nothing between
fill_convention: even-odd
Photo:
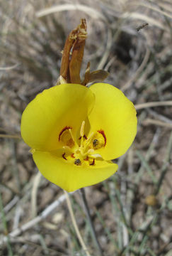
<instances>
[{"instance_id":1,"label":"whole open yellow three-petalled flower with red-marked center","mask_svg":"<svg viewBox=\"0 0 172 256\"><path fill-rule=\"evenodd\" d=\"M134 105L113 85L63 84L37 95L21 119L21 135L45 178L66 191L105 180L137 132Z\"/></svg>"}]
</instances>

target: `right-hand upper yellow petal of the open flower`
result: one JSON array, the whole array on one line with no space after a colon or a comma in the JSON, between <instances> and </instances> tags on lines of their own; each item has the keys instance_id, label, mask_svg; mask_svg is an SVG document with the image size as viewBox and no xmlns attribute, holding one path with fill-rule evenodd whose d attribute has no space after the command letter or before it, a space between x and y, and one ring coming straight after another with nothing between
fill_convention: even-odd
<instances>
[{"instance_id":1,"label":"right-hand upper yellow petal of the open flower","mask_svg":"<svg viewBox=\"0 0 172 256\"><path fill-rule=\"evenodd\" d=\"M137 117L134 105L113 85L96 83L90 87L96 96L89 114L91 132L103 130L106 144L98 149L103 159L115 159L132 144L137 132Z\"/></svg>"}]
</instances>

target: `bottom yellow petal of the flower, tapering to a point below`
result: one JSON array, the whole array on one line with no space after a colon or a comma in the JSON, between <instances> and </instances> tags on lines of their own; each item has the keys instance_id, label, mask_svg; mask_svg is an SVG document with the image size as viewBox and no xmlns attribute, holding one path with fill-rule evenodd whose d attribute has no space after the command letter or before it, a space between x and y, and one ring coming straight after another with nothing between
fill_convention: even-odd
<instances>
[{"instance_id":1,"label":"bottom yellow petal of the flower, tapering to a point below","mask_svg":"<svg viewBox=\"0 0 172 256\"><path fill-rule=\"evenodd\" d=\"M95 166L76 166L50 152L35 151L33 159L45 178L68 192L104 181L117 171L117 164L111 162L96 160Z\"/></svg>"}]
</instances>

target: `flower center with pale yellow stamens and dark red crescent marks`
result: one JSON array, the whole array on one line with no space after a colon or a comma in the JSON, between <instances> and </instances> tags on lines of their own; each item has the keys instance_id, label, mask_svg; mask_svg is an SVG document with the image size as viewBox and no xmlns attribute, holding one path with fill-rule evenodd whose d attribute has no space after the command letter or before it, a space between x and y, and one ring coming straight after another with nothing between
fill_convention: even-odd
<instances>
[{"instance_id":1,"label":"flower center with pale yellow stamens and dark red crescent marks","mask_svg":"<svg viewBox=\"0 0 172 256\"><path fill-rule=\"evenodd\" d=\"M62 142L64 154L62 158L76 166L94 166L96 158L101 156L95 152L106 144L105 132L98 130L89 134L88 138L85 134L85 121L81 124L80 137L75 140L72 134L72 127L64 127L59 133L59 142Z\"/></svg>"}]
</instances>

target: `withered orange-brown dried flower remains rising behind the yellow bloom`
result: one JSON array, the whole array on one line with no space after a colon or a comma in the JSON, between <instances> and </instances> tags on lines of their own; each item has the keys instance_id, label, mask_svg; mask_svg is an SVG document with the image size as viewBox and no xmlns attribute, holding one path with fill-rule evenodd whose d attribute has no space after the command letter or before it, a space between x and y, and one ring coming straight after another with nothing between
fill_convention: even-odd
<instances>
[{"instance_id":1,"label":"withered orange-brown dried flower remains rising behind the yellow bloom","mask_svg":"<svg viewBox=\"0 0 172 256\"><path fill-rule=\"evenodd\" d=\"M86 19L82 18L79 26L69 33L64 45L60 69L61 80L64 79L66 82L86 85L88 82L102 82L108 77L109 73L105 70L90 72L90 63L88 62L84 80L81 82L80 71L86 35Z\"/></svg>"}]
</instances>

